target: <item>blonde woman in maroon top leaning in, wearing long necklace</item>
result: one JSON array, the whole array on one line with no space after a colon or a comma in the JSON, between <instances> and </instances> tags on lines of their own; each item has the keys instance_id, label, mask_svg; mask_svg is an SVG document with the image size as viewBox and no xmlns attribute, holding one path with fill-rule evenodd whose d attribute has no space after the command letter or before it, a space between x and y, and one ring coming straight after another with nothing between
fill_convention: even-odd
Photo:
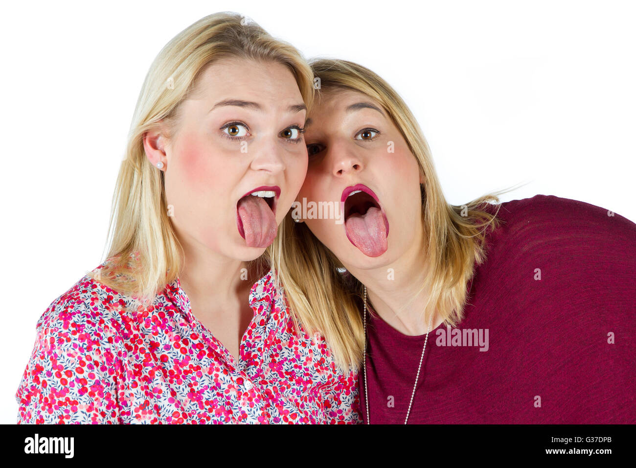
<instances>
[{"instance_id":1,"label":"blonde woman in maroon top leaning in, wearing long necklace","mask_svg":"<svg viewBox=\"0 0 636 468\"><path fill-rule=\"evenodd\" d=\"M292 307L356 351L364 422L634 422L636 225L544 195L453 206L382 78L312 69L307 178L272 250Z\"/></svg>"}]
</instances>

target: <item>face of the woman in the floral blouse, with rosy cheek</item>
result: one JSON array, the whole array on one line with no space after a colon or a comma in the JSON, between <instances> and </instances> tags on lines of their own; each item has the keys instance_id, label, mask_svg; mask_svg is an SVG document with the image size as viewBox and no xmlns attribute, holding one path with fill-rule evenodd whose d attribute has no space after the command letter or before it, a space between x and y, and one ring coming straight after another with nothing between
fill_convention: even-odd
<instances>
[{"instance_id":1,"label":"face of the woman in the floral blouse, with rosy cheek","mask_svg":"<svg viewBox=\"0 0 636 468\"><path fill-rule=\"evenodd\" d=\"M163 140L165 157L151 157L153 143L144 139L153 165L164 164L177 236L195 248L255 259L275 238L307 172L306 109L296 80L282 64L219 60L182 106L176 134Z\"/></svg>"}]
</instances>

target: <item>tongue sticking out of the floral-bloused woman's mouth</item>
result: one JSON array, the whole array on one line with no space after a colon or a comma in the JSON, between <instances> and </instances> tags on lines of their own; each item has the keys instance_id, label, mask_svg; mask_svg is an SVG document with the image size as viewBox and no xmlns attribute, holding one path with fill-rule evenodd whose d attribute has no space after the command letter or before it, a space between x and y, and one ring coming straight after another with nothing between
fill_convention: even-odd
<instances>
[{"instance_id":1,"label":"tongue sticking out of the floral-bloused woman's mouth","mask_svg":"<svg viewBox=\"0 0 636 468\"><path fill-rule=\"evenodd\" d=\"M263 197L247 195L237 204L239 233L249 247L267 247L276 237L276 218Z\"/></svg>"}]
</instances>

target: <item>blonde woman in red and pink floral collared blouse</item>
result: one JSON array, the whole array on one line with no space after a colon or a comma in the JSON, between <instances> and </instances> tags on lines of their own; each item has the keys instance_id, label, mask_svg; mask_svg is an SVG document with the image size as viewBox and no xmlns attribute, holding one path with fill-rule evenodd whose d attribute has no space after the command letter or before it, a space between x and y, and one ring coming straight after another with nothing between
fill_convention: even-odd
<instances>
[{"instance_id":1,"label":"blonde woman in red and pink floral collared blouse","mask_svg":"<svg viewBox=\"0 0 636 468\"><path fill-rule=\"evenodd\" d=\"M263 255L307 171L313 75L232 13L146 76L107 260L37 323L18 423L357 423L354 351L295 316Z\"/></svg>"}]
</instances>

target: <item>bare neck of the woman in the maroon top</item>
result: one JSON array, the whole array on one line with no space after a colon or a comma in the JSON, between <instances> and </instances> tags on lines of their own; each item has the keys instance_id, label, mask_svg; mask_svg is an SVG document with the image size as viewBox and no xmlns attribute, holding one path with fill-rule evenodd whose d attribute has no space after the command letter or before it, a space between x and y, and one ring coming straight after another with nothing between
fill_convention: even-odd
<instances>
[{"instance_id":1,"label":"bare neck of the woman in the maroon top","mask_svg":"<svg viewBox=\"0 0 636 468\"><path fill-rule=\"evenodd\" d=\"M367 308L373 310L394 329L404 335L424 335L429 330L429 316L424 316L424 304L429 290L424 289L424 281L429 273L429 262L424 255L424 236L401 257L391 264L377 269L347 270L367 288ZM431 330L441 324L436 313L431 322Z\"/></svg>"}]
</instances>

